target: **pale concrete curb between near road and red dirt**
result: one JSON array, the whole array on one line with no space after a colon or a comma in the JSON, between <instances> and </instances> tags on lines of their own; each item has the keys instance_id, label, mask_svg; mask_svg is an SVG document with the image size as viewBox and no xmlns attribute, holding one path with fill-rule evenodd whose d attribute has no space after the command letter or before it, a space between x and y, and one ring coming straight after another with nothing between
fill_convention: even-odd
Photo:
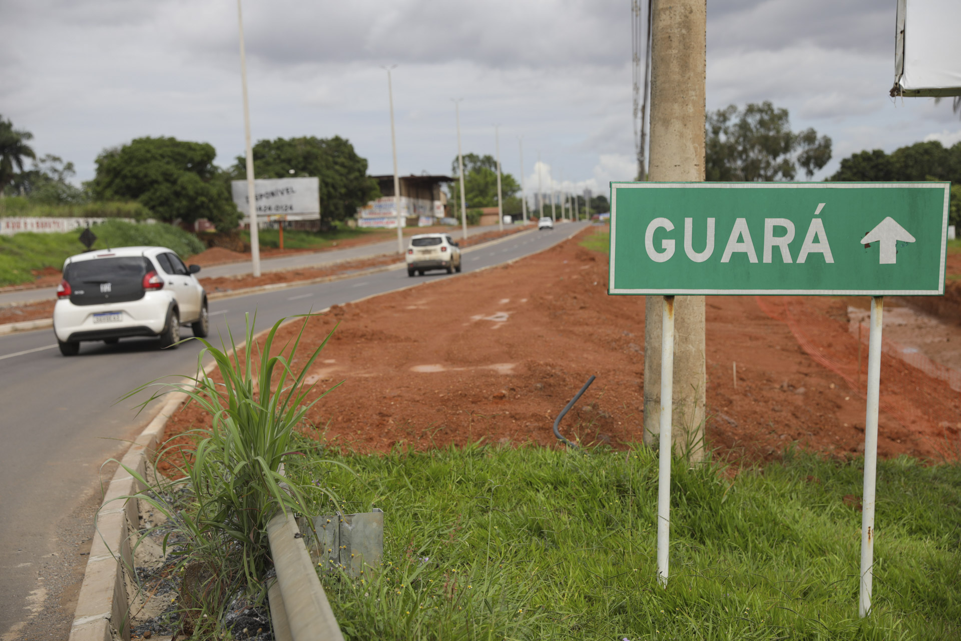
<instances>
[{"instance_id":1,"label":"pale concrete curb between near road and red dirt","mask_svg":"<svg viewBox=\"0 0 961 641\"><path fill-rule=\"evenodd\" d=\"M528 232L530 231L534 230L529 230ZM526 234L528 232L520 232L518 234ZM505 240L505 238L510 238L518 234L509 234L502 238L496 238L489 243L481 243L477 245L476 248L500 242ZM569 234L560 242L570 240L577 234L578 232ZM457 276L469 276L470 274L486 269L511 264L517 260L529 258L530 256L536 256L541 252L551 249L551 247L556 247L557 244L559 243L554 243L554 245L529 254L528 256L510 259L498 265L480 267L479 269L475 269L466 274L458 274ZM472 248L465 248L465 251L467 249ZM390 265L382 269L382 271L386 271L387 269L400 269L402 267L404 267L404 263L397 263L397 265ZM357 276L357 274L353 274L352 276ZM382 292L381 294L364 296L349 303L359 303L376 296L392 294L405 289L444 281L446 281L446 279L409 284L406 287ZM344 305L347 304L348 303L345 303ZM316 313L323 313L329 309L330 308L324 308ZM297 320L297 318L290 318L286 322L290 323L295 320ZM254 340L256 341L260 335L270 330L271 328L265 328L254 334ZM247 343L244 341L238 344L236 349L242 350L246 345ZM215 367L216 363L211 362L204 368L204 371L209 373ZM150 423L147 424L147 427L136 437L136 440L127 450L127 453L120 459L120 465L117 467L116 472L114 472L113 478L104 493L104 499L97 511L93 544L90 548L90 555L86 561L84 580L77 598L77 608L74 612L73 625L70 628L69 641L111 641L117 637L125 641L130 639L130 626L127 620L129 611L127 586L130 579L127 576L127 568L134 567L133 546L136 543L139 505L136 499L133 501L129 499L124 500L122 505L118 502L121 501L122 497L135 495L137 492L143 490L144 487L136 481L125 468L136 470L138 474L145 478L147 463L150 457L157 452L158 446L163 442L163 434L164 431L166 431L167 421L170 416L184 404L186 399L187 395L184 392L171 393L163 405L160 406L160 409L151 419ZM309 565L311 568L313 567L312 564ZM119 626L119 628L117 626Z\"/></svg>"}]
</instances>

